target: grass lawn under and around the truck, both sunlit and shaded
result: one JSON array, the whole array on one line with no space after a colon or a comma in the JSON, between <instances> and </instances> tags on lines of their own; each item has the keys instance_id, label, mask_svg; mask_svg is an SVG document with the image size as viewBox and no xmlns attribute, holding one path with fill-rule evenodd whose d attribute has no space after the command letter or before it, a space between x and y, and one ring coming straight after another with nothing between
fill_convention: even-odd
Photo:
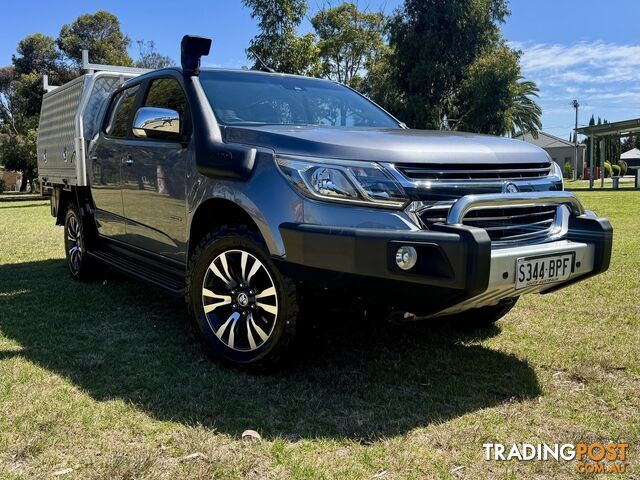
<instances>
[{"instance_id":1,"label":"grass lawn under and around the truck, both sunlit and shaded","mask_svg":"<svg viewBox=\"0 0 640 480\"><path fill-rule=\"evenodd\" d=\"M640 478L640 192L579 196L614 225L606 274L489 331L328 316L264 377L206 360L180 300L72 281L45 202L0 203L0 478L589 478L482 444L610 440Z\"/></svg>"}]
</instances>

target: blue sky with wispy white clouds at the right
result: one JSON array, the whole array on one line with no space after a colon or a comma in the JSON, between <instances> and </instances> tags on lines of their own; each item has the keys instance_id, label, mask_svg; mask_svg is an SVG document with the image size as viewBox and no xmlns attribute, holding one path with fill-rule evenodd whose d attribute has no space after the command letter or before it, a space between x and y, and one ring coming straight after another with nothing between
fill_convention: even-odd
<instances>
[{"instance_id":1,"label":"blue sky with wispy white clouds at the right","mask_svg":"<svg viewBox=\"0 0 640 480\"><path fill-rule=\"evenodd\" d=\"M323 3L310 0L312 8ZM337 0L333 0L337 3ZM401 0L359 0L361 6L390 13ZM540 87L545 131L568 138L573 98L581 104L580 124L591 114L609 121L640 117L639 0L512 0L503 26L508 41L523 51L524 75ZM116 14L132 40L154 40L161 53L179 58L185 33L214 39L208 65L247 64L244 49L255 22L239 0L135 2L21 0L3 5L0 65L8 64L17 42L30 33L57 36L82 13ZM308 29L308 22L303 29ZM135 56L135 48L131 54Z\"/></svg>"}]
</instances>

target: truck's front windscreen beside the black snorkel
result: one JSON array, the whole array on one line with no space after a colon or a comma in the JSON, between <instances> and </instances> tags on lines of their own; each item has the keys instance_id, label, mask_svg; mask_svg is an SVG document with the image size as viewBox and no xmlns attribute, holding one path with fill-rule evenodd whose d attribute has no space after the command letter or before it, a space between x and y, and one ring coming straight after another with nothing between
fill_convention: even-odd
<instances>
[{"instance_id":1,"label":"truck's front windscreen beside the black snorkel","mask_svg":"<svg viewBox=\"0 0 640 480\"><path fill-rule=\"evenodd\" d=\"M242 71L203 71L200 82L224 125L399 128L382 109L334 82Z\"/></svg>"}]
</instances>

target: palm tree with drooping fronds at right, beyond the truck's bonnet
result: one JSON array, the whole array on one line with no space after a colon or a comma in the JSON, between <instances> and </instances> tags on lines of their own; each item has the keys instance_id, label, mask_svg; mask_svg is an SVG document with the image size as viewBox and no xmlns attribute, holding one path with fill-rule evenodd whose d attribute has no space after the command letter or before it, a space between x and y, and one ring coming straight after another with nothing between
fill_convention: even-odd
<instances>
[{"instance_id":1,"label":"palm tree with drooping fronds at right, beyond the truck's bonnet","mask_svg":"<svg viewBox=\"0 0 640 480\"><path fill-rule=\"evenodd\" d=\"M538 132L542 128L540 116L542 109L531 97L538 97L538 86L535 82L519 77L513 85L511 106L507 110L505 122L512 137L530 133L538 138Z\"/></svg>"}]
</instances>

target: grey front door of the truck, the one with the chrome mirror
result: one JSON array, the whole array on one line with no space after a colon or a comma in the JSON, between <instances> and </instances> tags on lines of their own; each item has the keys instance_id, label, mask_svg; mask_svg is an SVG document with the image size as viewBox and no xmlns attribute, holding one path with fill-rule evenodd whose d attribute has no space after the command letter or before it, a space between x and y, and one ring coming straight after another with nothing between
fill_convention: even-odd
<instances>
[{"instance_id":1,"label":"grey front door of the truck, the one with the chrome mirror","mask_svg":"<svg viewBox=\"0 0 640 480\"><path fill-rule=\"evenodd\" d=\"M180 114L181 139L134 138L122 167L126 242L168 258L186 259L186 171L190 116L176 77L153 78L145 84L141 107Z\"/></svg>"}]
</instances>

